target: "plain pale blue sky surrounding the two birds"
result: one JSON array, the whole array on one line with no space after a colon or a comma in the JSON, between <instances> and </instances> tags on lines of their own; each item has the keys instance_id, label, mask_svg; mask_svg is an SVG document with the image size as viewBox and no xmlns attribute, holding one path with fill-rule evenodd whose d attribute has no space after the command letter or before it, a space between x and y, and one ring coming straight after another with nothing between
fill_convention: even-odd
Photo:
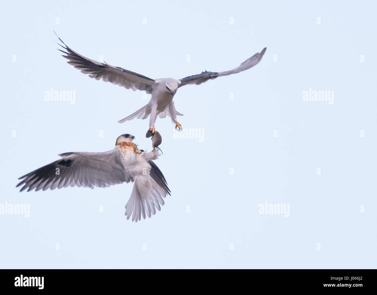
<instances>
[{"instance_id":1,"label":"plain pale blue sky surrounding the two birds","mask_svg":"<svg viewBox=\"0 0 377 295\"><path fill-rule=\"evenodd\" d=\"M30 204L30 217L0 214L0 267L376 267L375 3L2 8L0 204ZM172 196L135 224L124 216L132 184L15 188L18 177L57 154L111 150L123 133L151 147L149 119L117 123L150 95L68 65L54 30L78 53L150 78L229 70L267 51L252 69L178 90L179 122L204 137L176 139L170 119L157 119L164 154L156 164ZM75 103L45 101L50 89L75 91ZM303 101L309 89L334 91L333 104ZM265 202L289 204L289 217L259 214Z\"/></svg>"}]
</instances>

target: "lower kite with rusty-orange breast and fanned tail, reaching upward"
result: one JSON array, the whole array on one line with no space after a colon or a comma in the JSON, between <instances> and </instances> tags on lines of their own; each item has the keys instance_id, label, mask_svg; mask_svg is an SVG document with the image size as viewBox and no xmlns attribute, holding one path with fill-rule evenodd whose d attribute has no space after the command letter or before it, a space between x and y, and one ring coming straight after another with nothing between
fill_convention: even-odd
<instances>
[{"instance_id":1,"label":"lower kite with rusty-orange breast and fanned tail, reaching upward","mask_svg":"<svg viewBox=\"0 0 377 295\"><path fill-rule=\"evenodd\" d=\"M152 161L160 154L139 150L132 142L135 136L122 134L116 139L115 148L103 153L63 153L62 159L34 170L19 179L20 191L54 190L67 186L94 188L107 187L123 182L133 182L131 197L126 205L127 220L138 222L156 214L164 205L162 197L170 196L166 179ZM16 186L16 187L17 187Z\"/></svg>"}]
</instances>

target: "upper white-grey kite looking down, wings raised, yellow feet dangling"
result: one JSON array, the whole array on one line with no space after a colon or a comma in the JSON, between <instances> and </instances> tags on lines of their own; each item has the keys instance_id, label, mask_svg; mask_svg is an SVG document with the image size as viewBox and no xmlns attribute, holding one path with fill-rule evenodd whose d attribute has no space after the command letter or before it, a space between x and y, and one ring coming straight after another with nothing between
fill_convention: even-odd
<instances>
[{"instance_id":1,"label":"upper white-grey kite looking down, wings raised, yellow feet dangling","mask_svg":"<svg viewBox=\"0 0 377 295\"><path fill-rule=\"evenodd\" d=\"M204 71L198 75L187 76L179 80L173 78L151 79L121 67L114 67L107 63L90 60L70 49L60 38L59 40L64 44L64 46L59 44L64 48L64 50L59 50L66 54L63 55L63 57L69 60L67 63L81 70L82 73L89 74L90 78L95 78L96 80L102 79L105 82L111 82L126 89L132 89L134 91L143 90L148 94L152 94L152 98L147 105L144 105L144 107L137 110L135 113L118 122L123 123L134 118L146 119L150 116L149 128L151 128L153 133L155 132L157 116L160 118L169 116L175 123L176 130L182 130L182 125L177 121L177 116L182 116L182 114L175 110L173 102L173 96L179 87L187 84L199 85L209 79L215 79L219 76L227 76L250 69L259 63L266 51L266 48L264 48L260 53L256 53L248 60L244 61L239 67L225 72Z\"/></svg>"}]
</instances>

